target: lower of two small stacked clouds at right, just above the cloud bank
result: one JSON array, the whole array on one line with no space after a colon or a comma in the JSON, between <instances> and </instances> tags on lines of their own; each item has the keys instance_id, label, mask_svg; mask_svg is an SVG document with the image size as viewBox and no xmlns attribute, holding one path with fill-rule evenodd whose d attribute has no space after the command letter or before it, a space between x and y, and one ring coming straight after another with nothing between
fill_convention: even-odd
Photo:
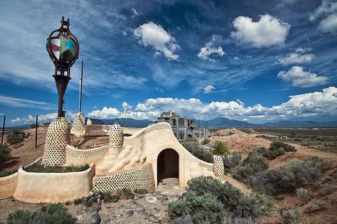
<instances>
[{"instance_id":1,"label":"lower of two small stacked clouds at right, just above the cloud bank","mask_svg":"<svg viewBox=\"0 0 337 224\"><path fill-rule=\"evenodd\" d=\"M311 87L315 85L324 85L328 78L325 76L319 76L316 73L310 71L304 71L301 66L293 66L290 70L282 70L277 75L278 78L286 82L292 82L292 85L297 87Z\"/></svg>"}]
</instances>

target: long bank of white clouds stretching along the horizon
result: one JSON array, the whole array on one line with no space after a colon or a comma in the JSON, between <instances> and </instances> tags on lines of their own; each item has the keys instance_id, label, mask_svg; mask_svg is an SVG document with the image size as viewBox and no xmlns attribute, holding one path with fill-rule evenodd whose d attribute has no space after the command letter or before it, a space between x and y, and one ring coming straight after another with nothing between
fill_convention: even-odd
<instances>
[{"instance_id":1,"label":"long bank of white clouds stretching along the horizon","mask_svg":"<svg viewBox=\"0 0 337 224\"><path fill-rule=\"evenodd\" d=\"M279 119L296 119L337 116L337 87L328 87L321 92L308 92L300 95L289 96L287 102L272 107L264 107L261 104L245 106L240 100L230 102L202 102L196 98L178 99L171 97L150 98L139 102L135 110L127 111L127 117L133 119L155 120L165 110L174 110L182 117L228 117L249 122L267 122ZM125 105L125 104L124 104ZM73 114L69 114L73 116ZM50 122L57 114L40 115L41 122ZM87 117L99 119L114 119L124 117L124 112L115 107L103 107L102 110L94 110ZM31 124L35 117L16 118L15 124Z\"/></svg>"}]
</instances>

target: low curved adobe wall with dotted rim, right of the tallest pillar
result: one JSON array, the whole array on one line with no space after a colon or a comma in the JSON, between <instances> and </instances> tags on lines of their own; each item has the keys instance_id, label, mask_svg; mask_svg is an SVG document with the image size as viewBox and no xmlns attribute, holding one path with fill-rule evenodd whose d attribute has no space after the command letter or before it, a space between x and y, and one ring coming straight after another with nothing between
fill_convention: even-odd
<instances>
[{"instance_id":1,"label":"low curved adobe wall with dotted rim, right of the tallest pillar","mask_svg":"<svg viewBox=\"0 0 337 224\"><path fill-rule=\"evenodd\" d=\"M83 164L98 164L109 152L109 145L92 149L77 149L74 146L65 146L65 166Z\"/></svg>"}]
</instances>

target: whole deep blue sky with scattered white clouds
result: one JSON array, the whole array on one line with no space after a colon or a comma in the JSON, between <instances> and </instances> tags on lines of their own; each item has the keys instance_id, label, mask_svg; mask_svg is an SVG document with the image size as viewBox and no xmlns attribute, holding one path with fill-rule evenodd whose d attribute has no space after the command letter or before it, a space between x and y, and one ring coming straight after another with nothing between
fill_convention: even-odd
<instances>
[{"instance_id":1,"label":"whole deep blue sky with scattered white clouds","mask_svg":"<svg viewBox=\"0 0 337 224\"><path fill-rule=\"evenodd\" d=\"M80 41L65 93L90 117L248 122L337 117L336 1L1 1L0 114L55 117L45 43L60 18ZM1 115L0 115L1 116ZM0 118L1 119L1 118Z\"/></svg>"}]
</instances>

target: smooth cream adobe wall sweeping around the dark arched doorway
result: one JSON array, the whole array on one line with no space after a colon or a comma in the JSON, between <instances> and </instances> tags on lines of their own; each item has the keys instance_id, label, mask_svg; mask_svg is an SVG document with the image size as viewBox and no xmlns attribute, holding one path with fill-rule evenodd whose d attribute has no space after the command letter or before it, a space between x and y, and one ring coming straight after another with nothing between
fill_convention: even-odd
<instances>
[{"instance_id":1,"label":"smooth cream adobe wall sweeping around the dark arched doorway","mask_svg":"<svg viewBox=\"0 0 337 224\"><path fill-rule=\"evenodd\" d=\"M141 129L131 137L124 137L124 145L141 147L146 154L146 163L154 169L155 187L157 186L157 159L164 149L174 149L179 155L179 185L197 176L213 176L213 164L202 161L187 151L174 136L171 125L166 122L153 124Z\"/></svg>"}]
</instances>

